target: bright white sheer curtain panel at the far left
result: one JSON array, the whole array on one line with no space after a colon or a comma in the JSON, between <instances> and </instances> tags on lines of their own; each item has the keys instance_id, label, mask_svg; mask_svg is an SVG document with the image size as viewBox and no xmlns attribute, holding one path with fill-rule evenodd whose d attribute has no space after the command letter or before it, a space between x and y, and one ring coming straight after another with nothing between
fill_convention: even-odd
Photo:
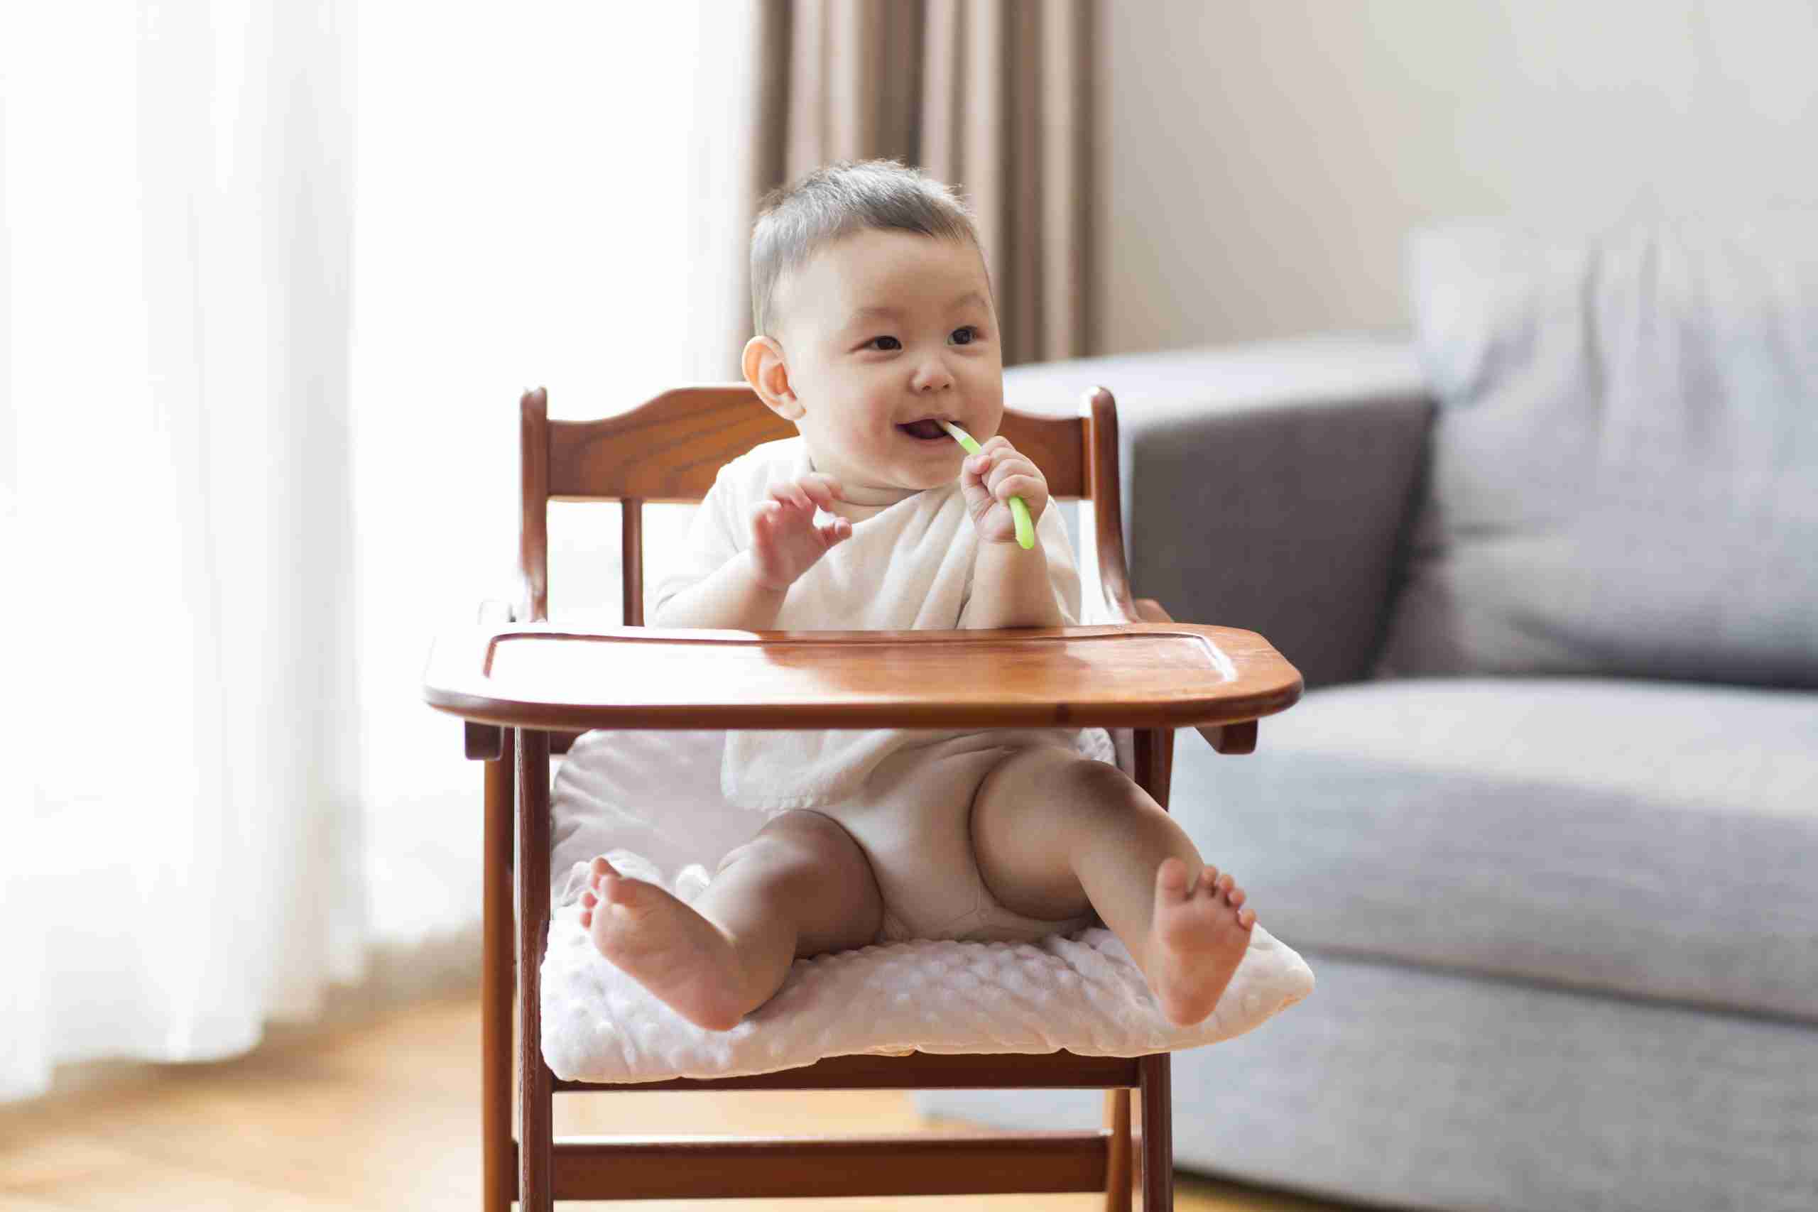
<instances>
[{"instance_id":1,"label":"bright white sheer curtain panel at the far left","mask_svg":"<svg viewBox=\"0 0 1818 1212\"><path fill-rule=\"evenodd\" d=\"M29 636L0 1098L62 1061L242 1052L362 970L349 18L0 16Z\"/></svg>"}]
</instances>

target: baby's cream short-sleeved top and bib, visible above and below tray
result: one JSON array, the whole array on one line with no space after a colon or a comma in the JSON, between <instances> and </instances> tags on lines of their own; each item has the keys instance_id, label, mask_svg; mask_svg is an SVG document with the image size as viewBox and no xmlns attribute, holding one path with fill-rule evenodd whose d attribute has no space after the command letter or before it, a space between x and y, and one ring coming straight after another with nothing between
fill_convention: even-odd
<instances>
[{"instance_id":1,"label":"baby's cream short-sleeved top and bib, visible above and below tray","mask_svg":"<svg viewBox=\"0 0 1818 1212\"><path fill-rule=\"evenodd\" d=\"M807 443L765 442L720 469L694 511L687 547L656 580L651 616L751 545L751 514L771 483L814 471ZM816 511L816 523L831 516ZM1064 623L1080 620L1080 572L1053 505L1036 520ZM784 598L778 631L965 629L978 536L960 482L911 492L853 523L853 536L804 572ZM976 729L731 730L720 765L727 803L780 812L833 803L889 754ZM1102 729L1053 729L1062 745L1111 761Z\"/></svg>"}]
</instances>

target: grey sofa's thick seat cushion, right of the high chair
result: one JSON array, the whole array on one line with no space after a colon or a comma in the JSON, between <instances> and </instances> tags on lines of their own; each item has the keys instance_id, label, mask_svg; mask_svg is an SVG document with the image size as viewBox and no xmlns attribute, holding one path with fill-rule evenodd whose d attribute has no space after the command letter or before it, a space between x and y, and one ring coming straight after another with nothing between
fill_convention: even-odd
<instances>
[{"instance_id":1,"label":"grey sofa's thick seat cushion, right of the high chair","mask_svg":"<svg viewBox=\"0 0 1818 1212\"><path fill-rule=\"evenodd\" d=\"M1438 678L1193 732L1171 810L1285 943L1818 1021L1818 696Z\"/></svg>"}]
</instances>

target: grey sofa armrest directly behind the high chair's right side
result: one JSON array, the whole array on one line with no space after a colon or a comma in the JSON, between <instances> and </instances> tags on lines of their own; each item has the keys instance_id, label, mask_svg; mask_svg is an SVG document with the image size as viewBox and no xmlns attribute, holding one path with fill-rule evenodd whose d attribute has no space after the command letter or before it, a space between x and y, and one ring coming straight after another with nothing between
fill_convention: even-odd
<instances>
[{"instance_id":1,"label":"grey sofa armrest directly behind the high chair's right side","mask_svg":"<svg viewBox=\"0 0 1818 1212\"><path fill-rule=\"evenodd\" d=\"M1104 383L1118 405L1131 589L1264 634L1307 687L1367 674L1433 400L1402 336L1016 367L1005 403Z\"/></svg>"}]
</instances>

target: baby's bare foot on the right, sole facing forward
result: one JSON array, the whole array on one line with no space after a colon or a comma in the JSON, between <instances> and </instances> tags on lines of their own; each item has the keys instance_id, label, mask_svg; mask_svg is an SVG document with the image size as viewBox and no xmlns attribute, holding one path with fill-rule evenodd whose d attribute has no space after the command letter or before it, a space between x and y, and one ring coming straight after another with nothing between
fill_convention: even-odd
<instances>
[{"instance_id":1,"label":"baby's bare foot on the right, sole facing forward","mask_svg":"<svg viewBox=\"0 0 1818 1212\"><path fill-rule=\"evenodd\" d=\"M1149 925L1149 990L1176 1027L1198 1023L1225 992L1249 947L1256 914L1244 909L1244 889L1216 867L1191 883L1178 858L1154 872L1154 919Z\"/></svg>"}]
</instances>

